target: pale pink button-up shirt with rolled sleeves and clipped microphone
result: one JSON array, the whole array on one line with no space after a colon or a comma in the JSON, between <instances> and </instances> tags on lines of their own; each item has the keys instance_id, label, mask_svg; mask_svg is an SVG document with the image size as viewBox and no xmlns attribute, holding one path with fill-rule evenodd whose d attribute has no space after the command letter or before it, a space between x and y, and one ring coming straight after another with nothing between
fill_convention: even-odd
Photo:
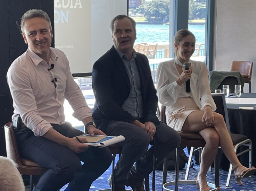
<instances>
[{"instance_id":1,"label":"pale pink button-up shirt with rolled sleeves and clipped microphone","mask_svg":"<svg viewBox=\"0 0 256 191\"><path fill-rule=\"evenodd\" d=\"M64 52L50 48L46 61L27 49L10 66L7 81L13 97L14 115L20 114L35 136L43 136L53 124L64 124L64 99L72 106L73 116L83 120L92 116L81 89L75 83ZM51 68L54 64L54 69ZM56 88L52 80L57 78Z\"/></svg>"}]
</instances>

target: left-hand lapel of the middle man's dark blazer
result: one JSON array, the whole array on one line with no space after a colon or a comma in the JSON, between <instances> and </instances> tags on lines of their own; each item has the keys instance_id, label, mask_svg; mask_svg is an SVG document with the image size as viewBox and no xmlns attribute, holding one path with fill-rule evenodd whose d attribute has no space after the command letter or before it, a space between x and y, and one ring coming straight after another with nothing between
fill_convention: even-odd
<instances>
[{"instance_id":1,"label":"left-hand lapel of the middle man's dark blazer","mask_svg":"<svg viewBox=\"0 0 256 191\"><path fill-rule=\"evenodd\" d=\"M127 74L127 71L124 67L124 63L123 60L121 59L121 57L119 56L119 54L116 52L114 45L112 46L112 48L110 49L110 53L112 55L112 59L114 60L115 66L116 68L119 70L119 72L121 73L121 75L123 76L126 84L128 85L129 89L131 89L131 84L130 84L130 80Z\"/></svg>"}]
</instances>

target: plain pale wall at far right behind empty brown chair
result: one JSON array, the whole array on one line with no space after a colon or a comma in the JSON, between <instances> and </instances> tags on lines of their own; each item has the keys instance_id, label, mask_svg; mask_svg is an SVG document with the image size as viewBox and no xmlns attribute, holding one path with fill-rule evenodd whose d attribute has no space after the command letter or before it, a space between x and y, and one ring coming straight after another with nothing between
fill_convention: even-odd
<instances>
[{"instance_id":1,"label":"plain pale wall at far right behind empty brown chair","mask_svg":"<svg viewBox=\"0 0 256 191\"><path fill-rule=\"evenodd\" d=\"M215 4L216 71L230 71L233 60L253 61L251 91L256 93L256 1L217 0ZM244 92L248 93L248 84Z\"/></svg>"}]
</instances>

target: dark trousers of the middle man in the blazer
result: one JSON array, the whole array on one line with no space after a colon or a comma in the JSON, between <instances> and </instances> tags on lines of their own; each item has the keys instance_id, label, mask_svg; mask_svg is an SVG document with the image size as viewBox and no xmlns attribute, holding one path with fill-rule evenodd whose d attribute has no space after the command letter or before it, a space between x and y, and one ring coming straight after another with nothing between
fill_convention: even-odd
<instances>
[{"instance_id":1,"label":"dark trousers of the middle man in the blazer","mask_svg":"<svg viewBox=\"0 0 256 191\"><path fill-rule=\"evenodd\" d=\"M137 179L144 179L152 172L154 147L156 147L157 166L181 142L179 133L162 122L154 134L156 145L150 141L146 131L128 122L110 121L106 133L109 136L125 137L124 141L117 144L123 147L122 155L115 167L115 185L117 186L123 186L127 182L130 171ZM150 149L148 149L149 144L152 144Z\"/></svg>"}]
</instances>

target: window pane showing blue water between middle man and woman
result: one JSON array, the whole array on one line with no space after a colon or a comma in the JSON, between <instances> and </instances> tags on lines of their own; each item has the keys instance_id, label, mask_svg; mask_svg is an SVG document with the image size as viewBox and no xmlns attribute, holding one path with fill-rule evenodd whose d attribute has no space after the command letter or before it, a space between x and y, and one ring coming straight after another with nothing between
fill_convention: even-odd
<instances>
[{"instance_id":1,"label":"window pane showing blue water between middle man and woman","mask_svg":"<svg viewBox=\"0 0 256 191\"><path fill-rule=\"evenodd\" d=\"M158 64L172 57L173 0L144 0L141 3L129 9L137 29L134 49L147 55L156 84Z\"/></svg>"}]
</instances>

